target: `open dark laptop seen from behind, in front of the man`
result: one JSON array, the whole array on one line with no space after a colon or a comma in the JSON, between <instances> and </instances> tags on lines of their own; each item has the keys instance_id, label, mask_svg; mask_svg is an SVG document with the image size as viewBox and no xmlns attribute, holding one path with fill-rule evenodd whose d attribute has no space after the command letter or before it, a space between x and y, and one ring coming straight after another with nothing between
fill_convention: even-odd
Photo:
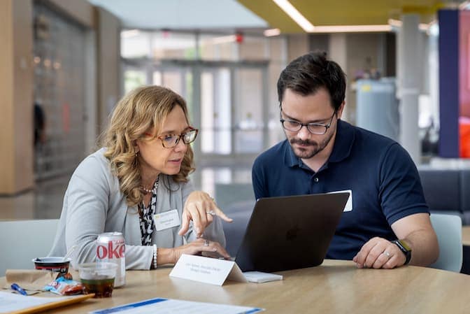
<instances>
[{"instance_id":1,"label":"open dark laptop seen from behind, in front of the man","mask_svg":"<svg viewBox=\"0 0 470 314\"><path fill-rule=\"evenodd\" d=\"M241 271L287 271L322 264L348 192L258 199L235 262Z\"/></svg>"}]
</instances>

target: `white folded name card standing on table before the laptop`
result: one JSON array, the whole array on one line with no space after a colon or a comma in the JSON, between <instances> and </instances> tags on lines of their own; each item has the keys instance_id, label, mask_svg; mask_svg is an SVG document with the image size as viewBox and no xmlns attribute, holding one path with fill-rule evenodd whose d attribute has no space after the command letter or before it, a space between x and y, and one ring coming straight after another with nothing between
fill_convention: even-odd
<instances>
[{"instance_id":1,"label":"white folded name card standing on table before the laptop","mask_svg":"<svg viewBox=\"0 0 470 314\"><path fill-rule=\"evenodd\" d=\"M181 255L176 262L170 277L223 285L225 280L246 283L247 280L235 262L196 255Z\"/></svg>"}]
</instances>

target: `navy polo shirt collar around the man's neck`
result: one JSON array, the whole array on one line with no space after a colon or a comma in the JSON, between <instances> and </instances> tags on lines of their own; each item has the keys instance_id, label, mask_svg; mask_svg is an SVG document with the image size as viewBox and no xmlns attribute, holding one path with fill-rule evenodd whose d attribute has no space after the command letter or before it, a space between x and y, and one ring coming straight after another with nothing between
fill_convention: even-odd
<instances>
[{"instance_id":1,"label":"navy polo shirt collar around the man's neck","mask_svg":"<svg viewBox=\"0 0 470 314\"><path fill-rule=\"evenodd\" d=\"M328 162L341 162L341 160L346 159L346 157L350 155L354 138L354 128L352 125L341 119L338 120L338 128L336 129L333 151L332 155L329 156ZM287 139L285 140L284 162L290 167L304 166L304 162L294 154L294 151Z\"/></svg>"}]
</instances>

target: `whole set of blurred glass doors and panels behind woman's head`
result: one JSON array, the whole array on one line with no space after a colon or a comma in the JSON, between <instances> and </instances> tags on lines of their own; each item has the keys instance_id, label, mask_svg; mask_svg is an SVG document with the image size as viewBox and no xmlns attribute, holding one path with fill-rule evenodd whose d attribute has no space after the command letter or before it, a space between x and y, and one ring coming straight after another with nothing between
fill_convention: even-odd
<instances>
[{"instance_id":1,"label":"whole set of blurred glass doors and panels behind woman's head","mask_svg":"<svg viewBox=\"0 0 470 314\"><path fill-rule=\"evenodd\" d=\"M125 87L162 85L187 101L200 131L194 152L203 162L254 159L270 144L266 62L166 60L127 65L124 78Z\"/></svg>"}]
</instances>

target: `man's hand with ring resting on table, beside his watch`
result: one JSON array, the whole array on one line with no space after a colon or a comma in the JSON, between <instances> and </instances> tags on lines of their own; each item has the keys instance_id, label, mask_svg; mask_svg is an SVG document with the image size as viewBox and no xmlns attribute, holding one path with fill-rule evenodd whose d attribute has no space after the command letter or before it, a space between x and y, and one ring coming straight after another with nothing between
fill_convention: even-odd
<instances>
[{"instance_id":1,"label":"man's hand with ring resting on table, beside his watch","mask_svg":"<svg viewBox=\"0 0 470 314\"><path fill-rule=\"evenodd\" d=\"M406 257L394 243L385 238L375 237L362 245L352 261L360 269L393 269L405 264Z\"/></svg>"}]
</instances>

